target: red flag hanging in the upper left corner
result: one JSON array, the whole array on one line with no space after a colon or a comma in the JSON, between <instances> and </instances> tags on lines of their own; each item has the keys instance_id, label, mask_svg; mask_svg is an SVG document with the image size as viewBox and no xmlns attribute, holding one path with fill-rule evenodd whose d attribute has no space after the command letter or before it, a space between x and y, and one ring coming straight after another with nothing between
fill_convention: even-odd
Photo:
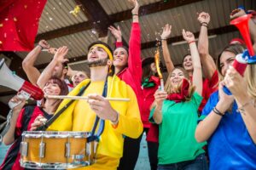
<instances>
[{"instance_id":1,"label":"red flag hanging in the upper left corner","mask_svg":"<svg viewBox=\"0 0 256 170\"><path fill-rule=\"evenodd\" d=\"M47 0L0 0L0 51L30 51Z\"/></svg>"}]
</instances>

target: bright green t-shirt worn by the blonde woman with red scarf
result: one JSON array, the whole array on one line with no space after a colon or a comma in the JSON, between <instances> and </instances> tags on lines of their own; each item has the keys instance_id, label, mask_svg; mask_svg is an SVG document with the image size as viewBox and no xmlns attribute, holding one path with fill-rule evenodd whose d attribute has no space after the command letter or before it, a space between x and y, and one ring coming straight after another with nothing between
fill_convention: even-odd
<instances>
[{"instance_id":1,"label":"bright green t-shirt worn by the blonde woman with red scarf","mask_svg":"<svg viewBox=\"0 0 256 170\"><path fill-rule=\"evenodd\" d=\"M162 107L163 119L159 125L160 165L194 160L196 156L204 153L202 147L206 142L197 143L195 128L197 126L197 110L202 97L195 93L187 102L175 103L164 100ZM153 120L154 109L150 111L149 121Z\"/></svg>"}]
</instances>

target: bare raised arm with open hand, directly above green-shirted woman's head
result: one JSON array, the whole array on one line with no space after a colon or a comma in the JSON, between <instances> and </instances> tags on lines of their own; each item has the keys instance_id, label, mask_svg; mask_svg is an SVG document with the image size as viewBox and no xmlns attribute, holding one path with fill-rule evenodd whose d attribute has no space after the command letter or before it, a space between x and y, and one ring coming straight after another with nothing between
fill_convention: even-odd
<instances>
[{"instance_id":1,"label":"bare raised arm with open hand, directly above green-shirted woman's head","mask_svg":"<svg viewBox=\"0 0 256 170\"><path fill-rule=\"evenodd\" d=\"M168 24L166 24L166 26L163 28L163 32L161 35L163 55L166 62L166 68L167 68L168 74L170 74L170 72L172 72L172 70L174 69L174 65L172 63L171 55L170 55L168 44L167 44L167 38L170 37L171 31L172 31L172 26L171 25L169 26Z\"/></svg>"}]
</instances>

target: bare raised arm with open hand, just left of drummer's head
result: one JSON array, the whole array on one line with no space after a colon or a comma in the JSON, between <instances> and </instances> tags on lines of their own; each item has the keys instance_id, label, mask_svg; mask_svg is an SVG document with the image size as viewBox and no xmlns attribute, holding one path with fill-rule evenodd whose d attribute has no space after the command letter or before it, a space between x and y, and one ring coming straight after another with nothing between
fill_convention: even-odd
<instances>
[{"instance_id":1,"label":"bare raised arm with open hand, just left of drummer's head","mask_svg":"<svg viewBox=\"0 0 256 170\"><path fill-rule=\"evenodd\" d=\"M40 88L44 88L45 83L49 80L50 77L52 77L52 73L55 70L55 66L57 64L61 64L68 59L64 59L65 55L68 52L68 48L66 46L63 46L61 48L58 48L57 52L55 53L54 58L51 60L49 65L44 69L40 77L38 78L38 86Z\"/></svg>"}]
</instances>

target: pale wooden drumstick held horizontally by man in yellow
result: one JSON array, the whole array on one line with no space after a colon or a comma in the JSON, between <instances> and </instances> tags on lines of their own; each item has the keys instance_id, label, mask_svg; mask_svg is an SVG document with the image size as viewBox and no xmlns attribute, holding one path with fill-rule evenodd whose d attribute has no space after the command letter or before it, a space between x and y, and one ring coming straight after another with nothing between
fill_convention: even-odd
<instances>
[{"instance_id":1,"label":"pale wooden drumstick held horizontally by man in yellow","mask_svg":"<svg viewBox=\"0 0 256 170\"><path fill-rule=\"evenodd\" d=\"M45 98L51 99L88 99L86 96L65 96L65 95L44 95ZM110 101L130 101L130 99L126 98L105 98Z\"/></svg>"}]
</instances>

